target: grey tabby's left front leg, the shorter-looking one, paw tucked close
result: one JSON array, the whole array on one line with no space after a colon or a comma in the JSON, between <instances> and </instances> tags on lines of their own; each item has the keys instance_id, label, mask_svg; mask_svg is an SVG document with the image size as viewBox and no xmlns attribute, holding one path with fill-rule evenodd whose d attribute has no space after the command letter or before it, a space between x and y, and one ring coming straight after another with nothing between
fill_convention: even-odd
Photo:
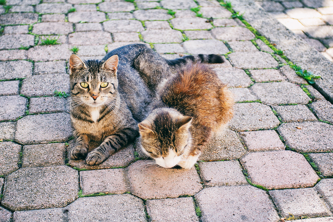
<instances>
[{"instance_id":1,"label":"grey tabby's left front leg, the shorter-looking one, paw tucked close","mask_svg":"<svg viewBox=\"0 0 333 222\"><path fill-rule=\"evenodd\" d=\"M76 130L73 131L75 137L75 146L70 151L71 159L83 159L88 153L89 138Z\"/></svg>"}]
</instances>

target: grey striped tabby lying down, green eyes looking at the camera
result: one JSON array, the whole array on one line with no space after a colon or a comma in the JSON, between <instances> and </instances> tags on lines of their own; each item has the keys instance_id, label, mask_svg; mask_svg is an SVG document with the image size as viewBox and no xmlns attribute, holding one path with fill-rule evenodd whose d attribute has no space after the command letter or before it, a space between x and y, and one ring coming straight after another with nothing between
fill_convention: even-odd
<instances>
[{"instance_id":1,"label":"grey striped tabby lying down, green eyes looking at the camera","mask_svg":"<svg viewBox=\"0 0 333 222\"><path fill-rule=\"evenodd\" d=\"M70 115L75 146L72 159L98 165L132 142L156 98L157 86L170 76L170 68L188 61L221 62L215 55L185 56L166 60L143 44L132 44L109 52L101 61L82 61L71 55ZM88 153L90 140L102 141Z\"/></svg>"}]
</instances>

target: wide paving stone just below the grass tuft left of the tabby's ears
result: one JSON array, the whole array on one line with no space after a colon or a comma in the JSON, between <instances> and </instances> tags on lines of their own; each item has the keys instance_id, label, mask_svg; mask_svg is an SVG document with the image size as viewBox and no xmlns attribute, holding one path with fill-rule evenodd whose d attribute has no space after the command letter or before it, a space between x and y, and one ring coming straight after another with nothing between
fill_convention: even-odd
<instances>
[{"instance_id":1,"label":"wide paving stone just below the grass tuft left of the tabby's ears","mask_svg":"<svg viewBox=\"0 0 333 222\"><path fill-rule=\"evenodd\" d=\"M35 46L28 50L28 59L34 61L67 60L72 52L66 44Z\"/></svg>"}]
</instances>

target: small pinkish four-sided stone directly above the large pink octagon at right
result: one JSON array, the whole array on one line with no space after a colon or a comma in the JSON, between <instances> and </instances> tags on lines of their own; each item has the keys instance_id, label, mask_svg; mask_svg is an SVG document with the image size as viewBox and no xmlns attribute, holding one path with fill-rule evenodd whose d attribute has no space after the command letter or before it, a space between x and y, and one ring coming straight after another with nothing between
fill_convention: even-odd
<instances>
[{"instance_id":1,"label":"small pinkish four-sided stone directly above the large pink octagon at right","mask_svg":"<svg viewBox=\"0 0 333 222\"><path fill-rule=\"evenodd\" d=\"M282 150L284 144L274 130L240 132L248 151Z\"/></svg>"}]
</instances>

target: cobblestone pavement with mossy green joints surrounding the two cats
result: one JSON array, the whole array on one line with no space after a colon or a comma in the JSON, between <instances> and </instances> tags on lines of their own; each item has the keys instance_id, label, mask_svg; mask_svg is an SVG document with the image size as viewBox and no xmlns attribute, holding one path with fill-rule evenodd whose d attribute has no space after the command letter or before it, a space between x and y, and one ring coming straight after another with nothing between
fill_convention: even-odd
<instances>
[{"instance_id":1,"label":"cobblestone pavement with mossy green joints surrounding the two cats","mask_svg":"<svg viewBox=\"0 0 333 222\"><path fill-rule=\"evenodd\" d=\"M331 30L331 0L260 3L313 38L309 25ZM303 6L318 11L289 9ZM0 13L0 221L333 221L333 105L229 4L7 0ZM328 35L318 38L332 47ZM235 115L195 168L147 166L137 142L99 166L68 157L69 56L101 59L137 42L167 59L226 58L212 66L236 95Z\"/></svg>"}]
</instances>

